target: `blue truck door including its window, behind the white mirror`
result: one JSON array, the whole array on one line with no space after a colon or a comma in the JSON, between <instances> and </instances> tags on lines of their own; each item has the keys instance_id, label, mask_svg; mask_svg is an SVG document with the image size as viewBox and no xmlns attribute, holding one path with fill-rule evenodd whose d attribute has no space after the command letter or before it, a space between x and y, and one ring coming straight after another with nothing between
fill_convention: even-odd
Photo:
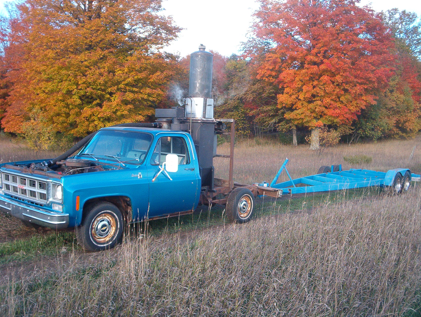
<instances>
[{"instance_id":1,"label":"blue truck door including its window, behind the white mirror","mask_svg":"<svg viewBox=\"0 0 421 317\"><path fill-rule=\"evenodd\" d=\"M184 136L161 136L147 161L147 172L149 181L149 215L156 217L168 215L175 212L184 212L196 207L200 193L192 150L187 146L187 138ZM167 154L176 154L179 157L179 169L177 172L169 173L172 181L165 175L152 179L160 171L159 166L165 162Z\"/></svg>"}]
</instances>

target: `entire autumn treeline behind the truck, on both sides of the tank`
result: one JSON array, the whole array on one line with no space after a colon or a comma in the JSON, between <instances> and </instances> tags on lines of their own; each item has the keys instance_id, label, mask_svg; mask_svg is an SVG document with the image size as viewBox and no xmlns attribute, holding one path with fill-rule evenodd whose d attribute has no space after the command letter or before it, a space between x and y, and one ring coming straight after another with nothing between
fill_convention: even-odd
<instances>
[{"instance_id":1,"label":"entire autumn treeline behind the truck, on both sides of the tank","mask_svg":"<svg viewBox=\"0 0 421 317\"><path fill-rule=\"evenodd\" d=\"M421 129L421 22L354 0L260 0L242 55L214 53L216 115L256 131L411 137ZM188 92L189 57L160 0L26 0L1 19L1 128L34 147L154 120ZM206 43L205 43L206 44ZM209 47L211 48L211 47Z\"/></svg>"}]
</instances>

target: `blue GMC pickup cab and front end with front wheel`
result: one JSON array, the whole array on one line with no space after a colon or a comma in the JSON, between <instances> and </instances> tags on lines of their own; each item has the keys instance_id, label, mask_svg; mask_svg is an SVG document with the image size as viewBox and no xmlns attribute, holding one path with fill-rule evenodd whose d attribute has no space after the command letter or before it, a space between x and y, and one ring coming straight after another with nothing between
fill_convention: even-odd
<instances>
[{"instance_id":1,"label":"blue GMC pickup cab and front end with front wheel","mask_svg":"<svg viewBox=\"0 0 421 317\"><path fill-rule=\"evenodd\" d=\"M113 247L125 223L191 213L199 202L197 155L183 131L103 128L75 155L42 162L0 165L0 209L30 226L77 227L91 251Z\"/></svg>"}]
</instances>

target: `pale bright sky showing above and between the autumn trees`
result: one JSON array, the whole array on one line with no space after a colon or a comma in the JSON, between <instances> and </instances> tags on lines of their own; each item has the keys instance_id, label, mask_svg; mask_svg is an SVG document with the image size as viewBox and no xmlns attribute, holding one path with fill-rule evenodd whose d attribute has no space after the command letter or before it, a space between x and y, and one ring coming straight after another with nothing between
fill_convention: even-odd
<instances>
[{"instance_id":1,"label":"pale bright sky showing above and between the autumn trees","mask_svg":"<svg viewBox=\"0 0 421 317\"><path fill-rule=\"evenodd\" d=\"M6 1L0 0L0 8ZM361 5L368 4L376 11L399 8L421 16L420 0L361 0ZM238 53L258 9L254 0L163 0L162 5L164 14L173 16L176 25L184 28L166 49L181 56L196 51L199 44L225 56Z\"/></svg>"}]
</instances>

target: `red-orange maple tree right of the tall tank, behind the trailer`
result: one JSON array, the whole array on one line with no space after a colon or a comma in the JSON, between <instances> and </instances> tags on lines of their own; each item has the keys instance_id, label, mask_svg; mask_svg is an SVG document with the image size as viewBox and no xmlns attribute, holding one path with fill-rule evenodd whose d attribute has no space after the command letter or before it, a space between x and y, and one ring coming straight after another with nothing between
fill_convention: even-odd
<instances>
[{"instance_id":1,"label":"red-orange maple tree right of the tall tank, behind the trailer","mask_svg":"<svg viewBox=\"0 0 421 317\"><path fill-rule=\"evenodd\" d=\"M260 3L253 26L259 45L248 55L260 55L258 78L280 86L286 119L311 129L350 124L376 102L392 75L393 44L372 10L354 0Z\"/></svg>"}]
</instances>

